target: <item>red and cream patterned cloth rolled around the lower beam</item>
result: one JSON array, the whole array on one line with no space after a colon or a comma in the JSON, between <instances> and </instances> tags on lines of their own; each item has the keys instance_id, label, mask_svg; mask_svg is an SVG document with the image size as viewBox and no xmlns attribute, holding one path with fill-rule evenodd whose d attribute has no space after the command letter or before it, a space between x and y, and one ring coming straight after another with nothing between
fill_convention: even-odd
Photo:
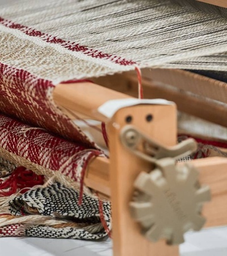
<instances>
[{"instance_id":1,"label":"red and cream patterned cloth rolled around the lower beam","mask_svg":"<svg viewBox=\"0 0 227 256\"><path fill-rule=\"evenodd\" d=\"M79 187L84 164L102 155L82 143L72 143L39 127L0 114L0 152L6 159L64 184Z\"/></svg>"}]
</instances>

